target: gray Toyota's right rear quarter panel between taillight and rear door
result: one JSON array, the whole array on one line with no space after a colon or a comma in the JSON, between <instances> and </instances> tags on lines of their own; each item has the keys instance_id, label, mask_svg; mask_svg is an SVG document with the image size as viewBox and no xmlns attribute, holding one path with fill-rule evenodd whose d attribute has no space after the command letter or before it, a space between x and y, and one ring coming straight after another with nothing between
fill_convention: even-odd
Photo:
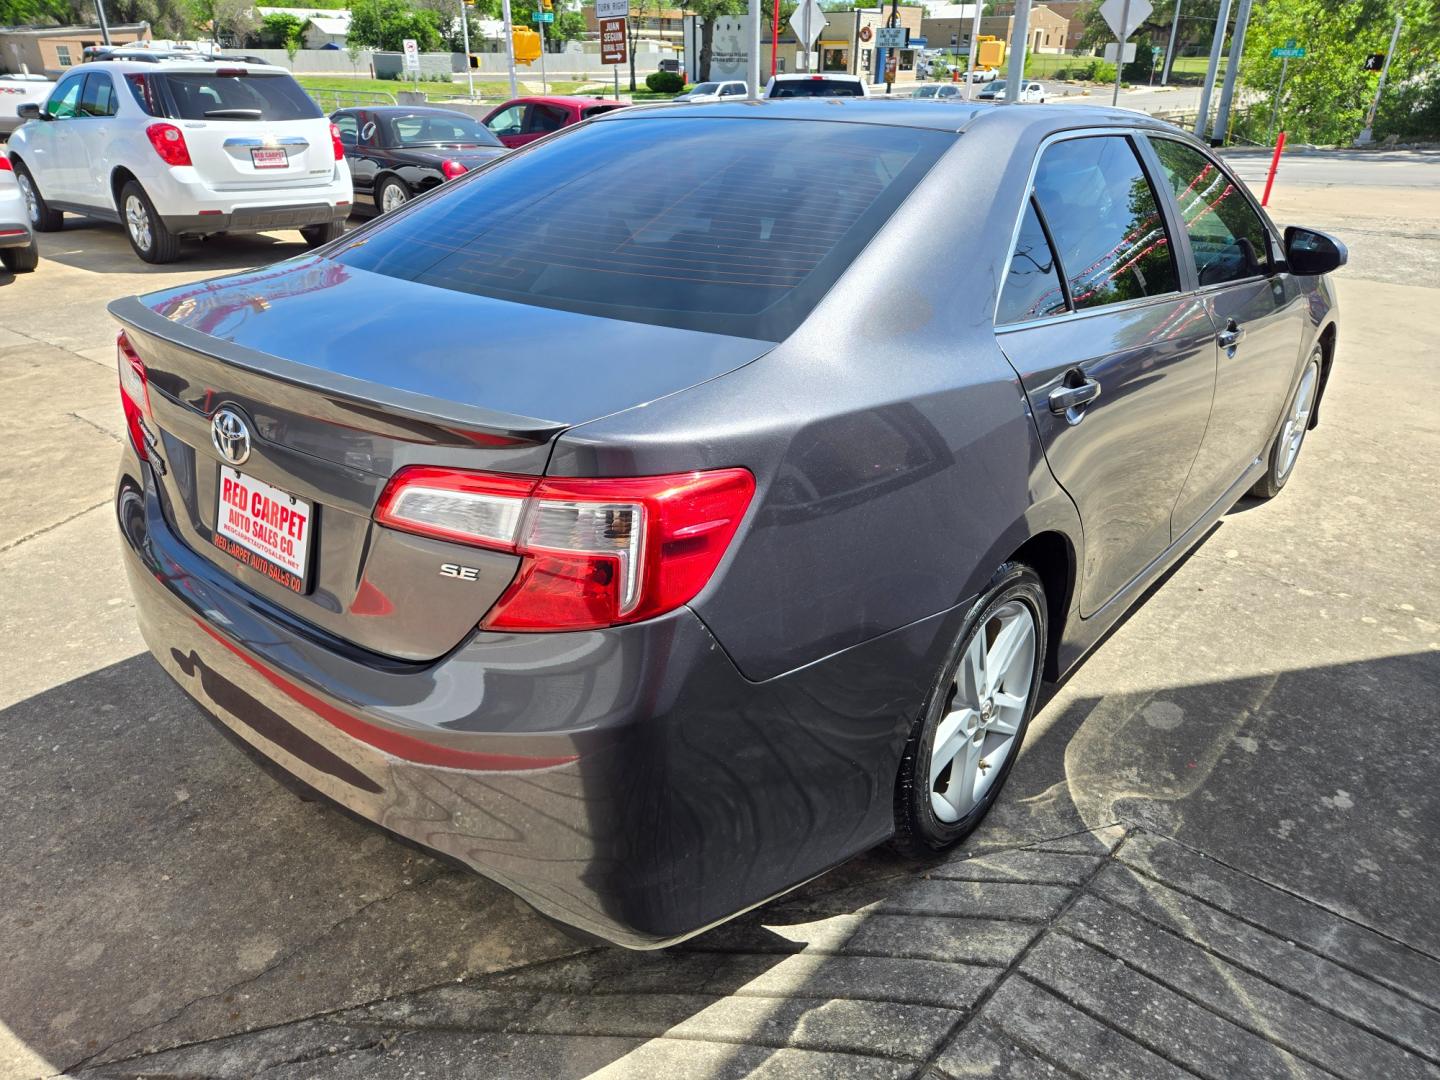
<instances>
[{"instance_id":1,"label":"gray Toyota's right rear quarter panel between taillight and rear door","mask_svg":"<svg viewBox=\"0 0 1440 1080\"><path fill-rule=\"evenodd\" d=\"M768 356L556 445L560 475L755 471L693 602L752 680L966 602L1037 531L1080 547L991 318L1028 157L972 177L1012 141L962 135Z\"/></svg>"}]
</instances>

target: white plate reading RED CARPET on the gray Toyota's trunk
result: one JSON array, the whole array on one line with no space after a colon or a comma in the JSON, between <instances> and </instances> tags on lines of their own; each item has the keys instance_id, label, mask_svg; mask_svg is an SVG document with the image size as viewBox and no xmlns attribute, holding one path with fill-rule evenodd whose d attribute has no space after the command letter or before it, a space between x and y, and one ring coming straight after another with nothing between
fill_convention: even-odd
<instances>
[{"instance_id":1,"label":"white plate reading RED CARPET on the gray Toyota's trunk","mask_svg":"<svg viewBox=\"0 0 1440 1080\"><path fill-rule=\"evenodd\" d=\"M213 539L242 566L294 593L310 592L315 507L308 500L222 464Z\"/></svg>"}]
</instances>

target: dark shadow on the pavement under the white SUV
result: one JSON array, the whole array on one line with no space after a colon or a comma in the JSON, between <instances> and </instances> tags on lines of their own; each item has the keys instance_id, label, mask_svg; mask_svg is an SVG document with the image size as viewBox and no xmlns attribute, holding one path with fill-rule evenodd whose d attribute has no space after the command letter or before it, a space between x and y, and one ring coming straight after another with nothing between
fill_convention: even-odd
<instances>
[{"instance_id":1,"label":"dark shadow on the pavement under the white SUV","mask_svg":"<svg viewBox=\"0 0 1440 1080\"><path fill-rule=\"evenodd\" d=\"M264 266L310 251L294 230L187 238L180 242L179 259L154 266L135 255L122 226L85 217L66 217L59 232L39 233L39 243L40 266L36 274L45 272L46 261L91 274L232 271Z\"/></svg>"}]
</instances>

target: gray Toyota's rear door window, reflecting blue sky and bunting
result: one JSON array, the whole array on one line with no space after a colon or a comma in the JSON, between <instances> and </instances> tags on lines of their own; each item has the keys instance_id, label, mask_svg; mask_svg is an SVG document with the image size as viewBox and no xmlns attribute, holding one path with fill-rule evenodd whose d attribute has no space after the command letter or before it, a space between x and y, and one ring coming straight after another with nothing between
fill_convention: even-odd
<instances>
[{"instance_id":1,"label":"gray Toyota's rear door window, reflecting blue sky and bunting","mask_svg":"<svg viewBox=\"0 0 1440 1080\"><path fill-rule=\"evenodd\" d=\"M1179 289L1165 222L1128 138L1056 143L1040 158L1035 199L1077 308Z\"/></svg>"}]
</instances>

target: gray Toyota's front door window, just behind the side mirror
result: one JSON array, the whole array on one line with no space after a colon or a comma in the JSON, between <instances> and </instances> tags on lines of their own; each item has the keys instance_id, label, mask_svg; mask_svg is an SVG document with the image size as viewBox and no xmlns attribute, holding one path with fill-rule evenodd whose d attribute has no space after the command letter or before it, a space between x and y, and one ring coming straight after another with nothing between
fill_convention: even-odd
<instances>
[{"instance_id":1,"label":"gray Toyota's front door window, just behind the side mirror","mask_svg":"<svg viewBox=\"0 0 1440 1080\"><path fill-rule=\"evenodd\" d=\"M1194 147L1172 138L1153 138L1151 144L1179 204L1200 284L1260 274L1269 251L1266 229L1244 193Z\"/></svg>"}]
</instances>

